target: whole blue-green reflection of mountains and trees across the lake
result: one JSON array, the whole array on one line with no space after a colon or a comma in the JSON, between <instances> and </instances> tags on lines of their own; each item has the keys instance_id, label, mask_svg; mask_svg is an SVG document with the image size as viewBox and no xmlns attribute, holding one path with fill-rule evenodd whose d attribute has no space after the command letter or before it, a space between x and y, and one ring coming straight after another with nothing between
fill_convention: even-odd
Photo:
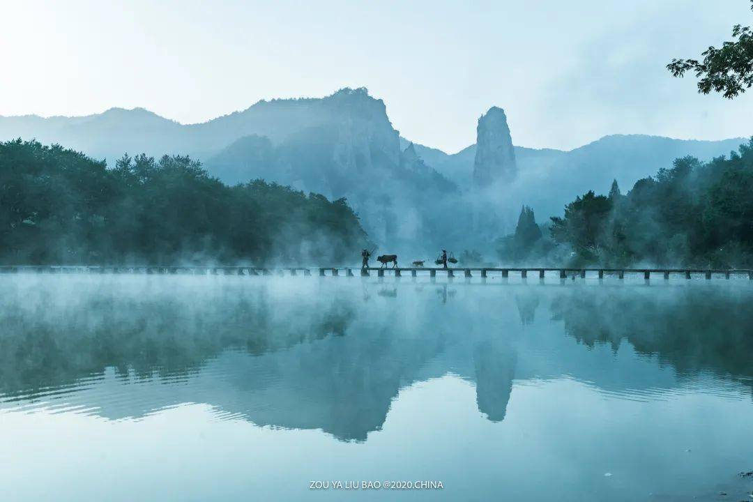
<instances>
[{"instance_id":1,"label":"whole blue-green reflection of mountains and trees across the lake","mask_svg":"<svg viewBox=\"0 0 753 502\"><path fill-rule=\"evenodd\" d=\"M0 289L8 410L138 419L207 403L364 441L402 388L447 373L474 383L489 421L505 419L516 382L636 400L689 386L739 397L734 382L749 397L753 382L745 286L17 276Z\"/></svg>"}]
</instances>

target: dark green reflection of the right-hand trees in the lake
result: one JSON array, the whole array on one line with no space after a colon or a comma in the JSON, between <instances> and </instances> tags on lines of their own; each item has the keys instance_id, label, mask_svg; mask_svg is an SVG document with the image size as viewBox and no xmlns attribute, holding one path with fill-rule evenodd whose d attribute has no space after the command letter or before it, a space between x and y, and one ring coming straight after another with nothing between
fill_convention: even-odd
<instances>
[{"instance_id":1,"label":"dark green reflection of the right-hand trees in the lake","mask_svg":"<svg viewBox=\"0 0 753 502\"><path fill-rule=\"evenodd\" d=\"M678 372L711 370L753 377L753 292L726 288L598 288L559 294L554 319L593 346L622 339L641 354L657 354Z\"/></svg>"}]
</instances>

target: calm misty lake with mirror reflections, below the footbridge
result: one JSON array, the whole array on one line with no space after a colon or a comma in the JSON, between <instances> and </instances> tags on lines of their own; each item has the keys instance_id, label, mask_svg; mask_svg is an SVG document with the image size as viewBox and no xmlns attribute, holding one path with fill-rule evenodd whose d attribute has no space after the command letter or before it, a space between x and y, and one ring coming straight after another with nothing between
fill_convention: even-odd
<instances>
[{"instance_id":1,"label":"calm misty lake with mirror reflections, below the footbridge","mask_svg":"<svg viewBox=\"0 0 753 502\"><path fill-rule=\"evenodd\" d=\"M747 278L0 294L3 500L753 500ZM443 488L309 488L424 480Z\"/></svg>"}]
</instances>

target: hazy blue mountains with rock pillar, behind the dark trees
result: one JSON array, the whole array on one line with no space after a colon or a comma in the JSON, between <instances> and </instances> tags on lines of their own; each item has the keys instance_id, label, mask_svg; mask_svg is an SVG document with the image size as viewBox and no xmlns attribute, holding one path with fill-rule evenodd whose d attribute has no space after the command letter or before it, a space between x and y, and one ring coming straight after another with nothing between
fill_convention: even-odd
<instances>
[{"instance_id":1,"label":"hazy blue mountains with rock pillar, behind the dark trees","mask_svg":"<svg viewBox=\"0 0 753 502\"><path fill-rule=\"evenodd\" d=\"M229 184L264 178L345 196L374 242L414 254L441 246L488 248L511 230L520 205L545 221L578 194L606 192L613 178L627 190L677 157L709 160L745 141L610 135L572 151L513 147L505 112L492 107L479 120L477 144L447 154L401 138L384 102L364 88L261 101L188 125L142 108L0 117L0 140L19 137L75 148L111 166L126 152L187 154Z\"/></svg>"}]
</instances>

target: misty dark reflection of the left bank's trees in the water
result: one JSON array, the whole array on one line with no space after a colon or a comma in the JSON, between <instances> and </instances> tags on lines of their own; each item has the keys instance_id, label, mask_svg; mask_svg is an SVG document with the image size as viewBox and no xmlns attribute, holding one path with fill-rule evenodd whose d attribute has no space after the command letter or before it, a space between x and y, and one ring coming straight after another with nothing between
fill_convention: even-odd
<instances>
[{"instance_id":1,"label":"misty dark reflection of the left bank's trees in the water","mask_svg":"<svg viewBox=\"0 0 753 502\"><path fill-rule=\"evenodd\" d=\"M255 298L194 302L185 295L148 299L86 296L75 309L0 310L0 392L34 393L114 367L139 379L195 372L226 348L264 354L343 336L355 316L342 298L319 298L301 315L273 315L263 291Z\"/></svg>"}]
</instances>

